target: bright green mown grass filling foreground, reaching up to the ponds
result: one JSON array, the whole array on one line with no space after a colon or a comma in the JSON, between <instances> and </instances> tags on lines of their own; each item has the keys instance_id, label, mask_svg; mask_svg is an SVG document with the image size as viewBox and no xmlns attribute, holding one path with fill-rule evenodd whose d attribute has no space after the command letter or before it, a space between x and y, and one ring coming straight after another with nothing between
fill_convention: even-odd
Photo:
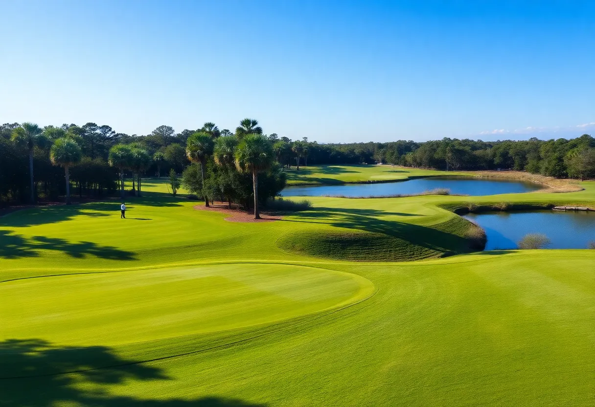
<instances>
[{"instance_id":1,"label":"bright green mown grass filling foreground, reaching up to the ponds","mask_svg":"<svg viewBox=\"0 0 595 407\"><path fill-rule=\"evenodd\" d=\"M592 205L593 182L312 197L272 223L145 185L127 220L117 201L0 218L0 405L594 405L595 251L436 258L468 251L443 206Z\"/></svg>"}]
</instances>

